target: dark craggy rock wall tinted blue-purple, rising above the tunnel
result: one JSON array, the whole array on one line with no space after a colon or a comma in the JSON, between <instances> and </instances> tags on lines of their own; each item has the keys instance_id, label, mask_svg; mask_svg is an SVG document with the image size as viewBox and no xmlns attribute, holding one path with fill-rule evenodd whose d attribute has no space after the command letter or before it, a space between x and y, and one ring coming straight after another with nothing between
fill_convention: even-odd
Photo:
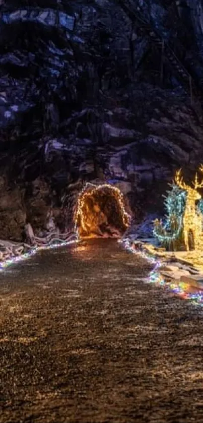
<instances>
[{"instance_id":1,"label":"dark craggy rock wall tinted blue-purple, rising above the tunnel","mask_svg":"<svg viewBox=\"0 0 203 423\"><path fill-rule=\"evenodd\" d=\"M0 237L72 224L86 181L133 217L203 160L202 0L0 2ZM188 31L189 28L189 31Z\"/></svg>"}]
</instances>

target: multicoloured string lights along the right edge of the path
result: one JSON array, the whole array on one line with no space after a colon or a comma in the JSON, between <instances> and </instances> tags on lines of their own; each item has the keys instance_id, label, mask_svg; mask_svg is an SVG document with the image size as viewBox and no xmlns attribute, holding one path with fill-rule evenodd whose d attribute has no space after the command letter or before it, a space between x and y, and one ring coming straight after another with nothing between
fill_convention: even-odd
<instances>
[{"instance_id":1,"label":"multicoloured string lights along the right edge of the path","mask_svg":"<svg viewBox=\"0 0 203 423\"><path fill-rule=\"evenodd\" d=\"M146 279L147 283L154 283L157 286L162 286L168 289L170 292L180 296L181 298L189 300L193 305L203 307L202 290L196 290L195 293L186 292L186 286L188 285L186 285L184 282L176 282L175 279L171 282L166 282L165 278L159 272L159 267L163 266L164 261L158 260L147 251L134 250L133 240L130 238L121 238L118 240L118 242L123 245L125 250L129 251L130 253L137 254L146 259L149 263L154 264L153 270L149 273L148 278Z\"/></svg>"}]
</instances>

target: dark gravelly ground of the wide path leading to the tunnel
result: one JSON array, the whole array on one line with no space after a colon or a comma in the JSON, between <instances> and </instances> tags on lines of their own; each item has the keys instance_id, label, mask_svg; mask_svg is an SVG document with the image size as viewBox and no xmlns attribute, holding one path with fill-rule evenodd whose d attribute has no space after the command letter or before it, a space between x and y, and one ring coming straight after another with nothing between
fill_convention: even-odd
<instances>
[{"instance_id":1,"label":"dark gravelly ground of the wide path leading to the tunnel","mask_svg":"<svg viewBox=\"0 0 203 423\"><path fill-rule=\"evenodd\" d=\"M202 309L116 240L0 274L0 421L203 421Z\"/></svg>"}]
</instances>

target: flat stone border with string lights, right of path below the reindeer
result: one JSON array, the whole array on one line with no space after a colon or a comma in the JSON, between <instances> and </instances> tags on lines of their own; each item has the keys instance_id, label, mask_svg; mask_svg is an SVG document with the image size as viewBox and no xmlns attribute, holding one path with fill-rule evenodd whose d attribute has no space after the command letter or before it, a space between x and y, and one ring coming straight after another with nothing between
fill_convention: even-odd
<instances>
[{"instance_id":1,"label":"flat stone border with string lights, right of path below the reindeer","mask_svg":"<svg viewBox=\"0 0 203 423\"><path fill-rule=\"evenodd\" d=\"M156 283L193 304L203 307L203 273L194 267L192 260L178 258L139 239L122 238L120 242L131 253L136 253L155 264L148 281ZM203 262L203 257L202 257Z\"/></svg>"}]
</instances>

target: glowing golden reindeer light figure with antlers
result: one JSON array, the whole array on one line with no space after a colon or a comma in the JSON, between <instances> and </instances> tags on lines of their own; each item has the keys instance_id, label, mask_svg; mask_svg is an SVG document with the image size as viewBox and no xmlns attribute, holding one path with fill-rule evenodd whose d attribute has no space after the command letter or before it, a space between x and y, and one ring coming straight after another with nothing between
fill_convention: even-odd
<instances>
[{"instance_id":1,"label":"glowing golden reindeer light figure with antlers","mask_svg":"<svg viewBox=\"0 0 203 423\"><path fill-rule=\"evenodd\" d=\"M203 172L202 164L199 166L199 170ZM201 250L203 248L202 215L197 213L195 201L201 199L200 194L196 190L203 187L203 179L198 182L196 173L194 182L192 182L193 188L189 187L183 182L181 169L179 169L175 174L175 183L187 193L182 221L186 250Z\"/></svg>"}]
</instances>

